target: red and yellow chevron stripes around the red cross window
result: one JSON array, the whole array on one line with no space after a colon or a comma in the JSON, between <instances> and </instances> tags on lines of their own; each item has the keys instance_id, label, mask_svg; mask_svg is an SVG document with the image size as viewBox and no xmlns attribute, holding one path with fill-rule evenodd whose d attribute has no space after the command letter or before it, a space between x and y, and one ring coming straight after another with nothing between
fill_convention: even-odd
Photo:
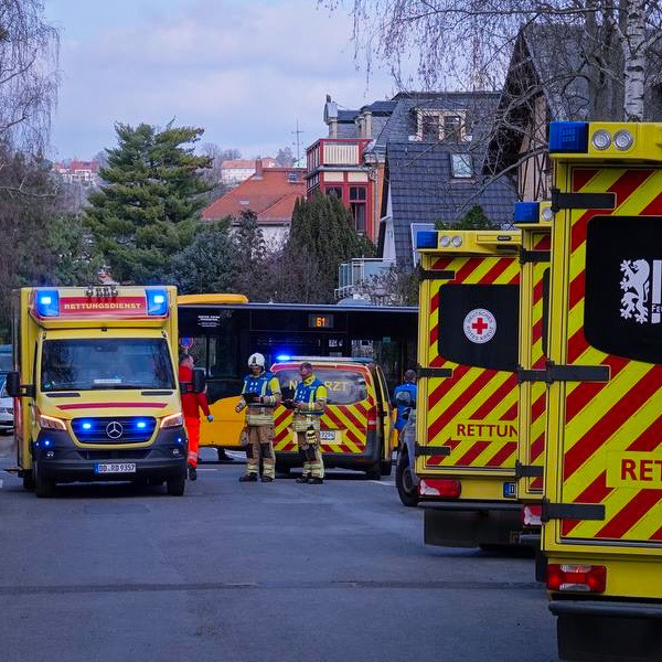
<instances>
[{"instance_id":1,"label":"red and yellow chevron stripes around the red cross window","mask_svg":"<svg viewBox=\"0 0 662 662\"><path fill-rule=\"evenodd\" d=\"M453 280L430 284L427 365L448 367L452 377L430 377L426 428L429 446L450 447L449 456L427 456L426 470L449 467L512 469L517 450L517 380L511 372L458 365L438 354L439 289L444 284L516 285L516 257L444 256L431 269L451 270Z\"/></svg>"}]
</instances>

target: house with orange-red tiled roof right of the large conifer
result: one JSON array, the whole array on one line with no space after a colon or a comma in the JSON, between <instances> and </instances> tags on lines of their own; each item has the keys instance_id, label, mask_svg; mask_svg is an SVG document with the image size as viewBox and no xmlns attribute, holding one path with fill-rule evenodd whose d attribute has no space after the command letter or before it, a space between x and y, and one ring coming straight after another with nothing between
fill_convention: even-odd
<instances>
[{"instance_id":1,"label":"house with orange-red tiled roof right of the large conifer","mask_svg":"<svg viewBox=\"0 0 662 662\"><path fill-rule=\"evenodd\" d=\"M303 168L264 168L257 159L255 172L206 206L202 218L237 218L242 212L253 211L267 246L280 246L289 233L295 202L306 195L305 174Z\"/></svg>"}]
</instances>

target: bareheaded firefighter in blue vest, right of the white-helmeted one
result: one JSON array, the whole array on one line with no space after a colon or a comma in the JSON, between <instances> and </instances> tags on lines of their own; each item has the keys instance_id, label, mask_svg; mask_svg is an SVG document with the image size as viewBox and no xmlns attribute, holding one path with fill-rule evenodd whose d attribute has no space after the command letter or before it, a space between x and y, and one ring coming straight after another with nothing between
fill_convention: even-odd
<instances>
[{"instance_id":1,"label":"bareheaded firefighter in blue vest, right of the white-helmeted one","mask_svg":"<svg viewBox=\"0 0 662 662\"><path fill-rule=\"evenodd\" d=\"M305 361L299 367L301 381L295 397L286 406L295 413L292 429L297 433L299 452L303 456L303 472L298 483L324 482L324 461L320 441L320 420L327 408L327 387L318 380L312 365Z\"/></svg>"}]
</instances>

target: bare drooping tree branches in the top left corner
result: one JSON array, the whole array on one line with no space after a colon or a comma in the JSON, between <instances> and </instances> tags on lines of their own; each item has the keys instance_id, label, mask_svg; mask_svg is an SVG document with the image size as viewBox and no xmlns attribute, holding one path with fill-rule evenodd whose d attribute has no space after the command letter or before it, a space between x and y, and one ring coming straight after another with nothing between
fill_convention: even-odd
<instances>
[{"instance_id":1,"label":"bare drooping tree branches in the top left corner","mask_svg":"<svg viewBox=\"0 0 662 662\"><path fill-rule=\"evenodd\" d=\"M44 151L57 93L57 31L42 0L0 0L0 140Z\"/></svg>"}]
</instances>

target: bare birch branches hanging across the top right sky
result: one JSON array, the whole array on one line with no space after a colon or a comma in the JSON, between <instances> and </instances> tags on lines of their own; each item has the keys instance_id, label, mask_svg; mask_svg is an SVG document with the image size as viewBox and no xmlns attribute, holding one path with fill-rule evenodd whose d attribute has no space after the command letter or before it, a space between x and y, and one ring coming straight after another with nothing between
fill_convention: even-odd
<instances>
[{"instance_id":1,"label":"bare birch branches hanging across the top right sky","mask_svg":"<svg viewBox=\"0 0 662 662\"><path fill-rule=\"evenodd\" d=\"M595 93L622 98L618 115L610 104L592 105L594 119L641 120L648 77L660 71L662 9L653 0L320 0L331 9L350 6L357 56L391 66L398 85L410 58L428 87L499 88L522 26L557 25L575 34L575 76L587 77ZM572 32L568 32L572 31ZM559 32L560 33L560 32ZM554 49L564 49L563 39ZM558 54L558 53L557 53ZM577 55L577 57L575 57ZM649 60L647 65L647 58ZM544 72L542 73L544 75ZM553 74L555 75L555 74ZM528 93L531 90L527 90ZM598 115L594 115L597 113Z\"/></svg>"}]
</instances>

